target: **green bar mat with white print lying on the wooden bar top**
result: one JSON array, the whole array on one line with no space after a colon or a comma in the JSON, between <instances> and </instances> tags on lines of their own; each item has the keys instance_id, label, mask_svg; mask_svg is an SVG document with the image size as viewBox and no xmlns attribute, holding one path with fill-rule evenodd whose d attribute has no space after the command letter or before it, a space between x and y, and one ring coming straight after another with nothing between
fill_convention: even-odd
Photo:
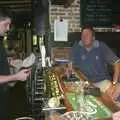
<instances>
[{"instance_id":1,"label":"green bar mat with white print lying on the wooden bar top","mask_svg":"<svg viewBox=\"0 0 120 120\"><path fill-rule=\"evenodd\" d=\"M74 111L77 111L75 93L66 93L68 101L72 105ZM103 103L92 95L85 96L85 113L91 115L94 119L109 118L112 112Z\"/></svg>"}]
</instances>

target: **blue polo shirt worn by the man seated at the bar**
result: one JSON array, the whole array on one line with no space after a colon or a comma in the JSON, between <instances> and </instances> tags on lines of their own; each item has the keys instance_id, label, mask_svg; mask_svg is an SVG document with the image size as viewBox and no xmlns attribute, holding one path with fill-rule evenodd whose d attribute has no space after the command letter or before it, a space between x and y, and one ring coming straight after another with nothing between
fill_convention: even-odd
<instances>
[{"instance_id":1,"label":"blue polo shirt worn by the man seated at the bar","mask_svg":"<svg viewBox=\"0 0 120 120\"><path fill-rule=\"evenodd\" d=\"M111 80L108 64L119 62L119 58L103 42L94 40L90 49L84 48L82 41L71 50L73 67L79 68L92 82Z\"/></svg>"}]
</instances>

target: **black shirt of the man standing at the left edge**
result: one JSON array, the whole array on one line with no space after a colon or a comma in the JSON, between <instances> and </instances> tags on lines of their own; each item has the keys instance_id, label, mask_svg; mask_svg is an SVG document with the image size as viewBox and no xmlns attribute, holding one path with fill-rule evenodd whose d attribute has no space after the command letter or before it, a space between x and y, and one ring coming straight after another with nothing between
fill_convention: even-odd
<instances>
[{"instance_id":1,"label":"black shirt of the man standing at the left edge","mask_svg":"<svg viewBox=\"0 0 120 120\"><path fill-rule=\"evenodd\" d=\"M9 65L6 50L0 41L0 75L9 75ZM8 120L8 86L0 83L0 120Z\"/></svg>"}]
</instances>

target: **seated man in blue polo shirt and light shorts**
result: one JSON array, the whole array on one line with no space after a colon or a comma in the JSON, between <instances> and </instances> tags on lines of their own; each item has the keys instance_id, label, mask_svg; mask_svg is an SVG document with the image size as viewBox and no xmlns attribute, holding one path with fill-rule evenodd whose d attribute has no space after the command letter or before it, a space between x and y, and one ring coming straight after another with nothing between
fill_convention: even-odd
<instances>
[{"instance_id":1,"label":"seated man in blue polo shirt and light shorts","mask_svg":"<svg viewBox=\"0 0 120 120\"><path fill-rule=\"evenodd\" d=\"M112 94L112 88L118 85L119 65L117 63L120 60L106 44L94 40L94 30L91 26L83 27L81 40L71 50L71 61L73 67L79 68L102 92L107 91L109 95L115 97L116 92ZM113 76L110 76L108 65L113 66Z\"/></svg>"}]
</instances>

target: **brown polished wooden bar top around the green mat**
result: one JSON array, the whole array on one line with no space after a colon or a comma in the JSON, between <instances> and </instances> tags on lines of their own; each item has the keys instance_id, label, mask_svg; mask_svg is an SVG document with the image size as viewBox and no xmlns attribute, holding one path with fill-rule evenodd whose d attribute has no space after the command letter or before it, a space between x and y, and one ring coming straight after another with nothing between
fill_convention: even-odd
<instances>
[{"instance_id":1,"label":"brown polished wooden bar top around the green mat","mask_svg":"<svg viewBox=\"0 0 120 120\"><path fill-rule=\"evenodd\" d=\"M68 92L67 91L67 88L65 87L65 84L63 82L63 80L61 79L61 75L64 74L65 70L64 68L57 68L57 70L54 70L54 72L59 76L59 84L61 86L61 89L62 89L62 94L64 95L64 104L67 108L67 111L73 111L73 108L72 108L72 105L70 104L70 102L68 101L67 99L67 96L66 96L66 93ZM86 79L86 77L80 73L80 77L81 79ZM107 95L107 93L104 93L102 94L100 97L96 97L99 101L101 101L106 107L108 107L112 113L114 112L117 112L120 110L120 107L117 106L113 101L112 99L109 97L109 95ZM102 119L103 120L103 119ZM107 118L107 119L104 119L104 120L112 120L112 117L111 118Z\"/></svg>"}]
</instances>

